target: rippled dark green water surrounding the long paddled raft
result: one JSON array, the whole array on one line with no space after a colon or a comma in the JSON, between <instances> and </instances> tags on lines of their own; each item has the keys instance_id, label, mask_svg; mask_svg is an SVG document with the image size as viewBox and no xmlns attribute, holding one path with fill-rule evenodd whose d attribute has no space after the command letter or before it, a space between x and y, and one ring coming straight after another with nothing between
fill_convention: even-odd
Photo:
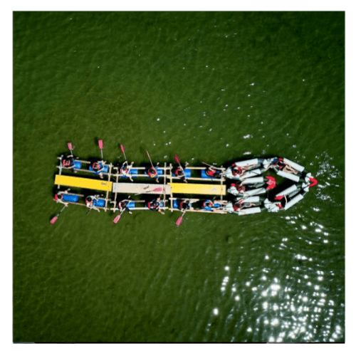
<instances>
[{"instance_id":1,"label":"rippled dark green water surrounding the long paddled raft","mask_svg":"<svg viewBox=\"0 0 356 356\"><path fill-rule=\"evenodd\" d=\"M15 12L14 342L344 342L344 88L343 12ZM319 184L279 214L52 226L57 155L98 139Z\"/></svg>"}]
</instances>

